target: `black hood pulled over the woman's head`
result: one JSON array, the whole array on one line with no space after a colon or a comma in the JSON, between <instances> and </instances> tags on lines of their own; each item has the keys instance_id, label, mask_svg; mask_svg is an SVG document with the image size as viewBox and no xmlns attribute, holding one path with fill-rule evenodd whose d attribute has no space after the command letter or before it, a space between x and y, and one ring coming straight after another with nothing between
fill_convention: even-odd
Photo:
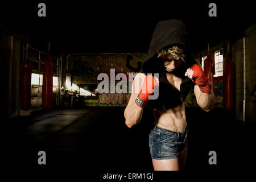
<instances>
[{"instance_id":1,"label":"black hood pulled over the woman's head","mask_svg":"<svg viewBox=\"0 0 256 182\"><path fill-rule=\"evenodd\" d=\"M157 52L171 46L178 46L185 49L185 63L180 65L180 69L181 67L188 68L192 62L191 51L189 47L187 28L181 20L170 19L156 24L150 47L148 49L148 55L144 59L142 71L144 73L166 71L163 67L162 61L157 57Z\"/></svg>"}]
</instances>

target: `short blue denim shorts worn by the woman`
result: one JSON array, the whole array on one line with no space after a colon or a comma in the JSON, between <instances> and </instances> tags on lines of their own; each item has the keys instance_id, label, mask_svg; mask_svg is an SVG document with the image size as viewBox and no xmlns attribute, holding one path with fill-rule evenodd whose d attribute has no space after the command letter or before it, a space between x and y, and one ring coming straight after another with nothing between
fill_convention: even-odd
<instances>
[{"instance_id":1,"label":"short blue denim shorts worn by the woman","mask_svg":"<svg viewBox=\"0 0 256 182\"><path fill-rule=\"evenodd\" d=\"M187 147L188 126L185 132L174 132L155 126L149 134L152 159L175 159Z\"/></svg>"}]
</instances>

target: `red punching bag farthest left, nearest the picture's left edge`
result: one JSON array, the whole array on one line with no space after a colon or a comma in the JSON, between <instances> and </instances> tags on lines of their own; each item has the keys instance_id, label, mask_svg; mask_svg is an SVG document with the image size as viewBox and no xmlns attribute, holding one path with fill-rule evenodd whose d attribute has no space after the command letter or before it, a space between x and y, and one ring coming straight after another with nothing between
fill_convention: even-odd
<instances>
[{"instance_id":1,"label":"red punching bag farthest left, nearest the picture's left edge","mask_svg":"<svg viewBox=\"0 0 256 182\"><path fill-rule=\"evenodd\" d=\"M31 74L31 61L24 59L20 69L20 109L22 110L31 109Z\"/></svg>"}]
</instances>

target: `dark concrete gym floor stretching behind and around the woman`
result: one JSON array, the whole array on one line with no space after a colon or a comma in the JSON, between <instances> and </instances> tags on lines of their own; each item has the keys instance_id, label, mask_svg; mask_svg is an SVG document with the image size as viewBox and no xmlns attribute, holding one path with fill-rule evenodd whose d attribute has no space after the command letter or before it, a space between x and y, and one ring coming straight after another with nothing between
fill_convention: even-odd
<instances>
[{"instance_id":1,"label":"dark concrete gym floor stretching behind and around the woman","mask_svg":"<svg viewBox=\"0 0 256 182\"><path fill-rule=\"evenodd\" d=\"M91 172L152 172L148 133L154 122L144 109L139 125L125 125L125 107L52 109L29 117L9 119L5 128L5 159L16 169L73 169ZM204 112L187 108L188 159L186 171L245 170L254 164L252 123L236 121L223 110ZM46 152L46 165L38 152ZM217 165L209 165L209 151L217 152Z\"/></svg>"}]
</instances>

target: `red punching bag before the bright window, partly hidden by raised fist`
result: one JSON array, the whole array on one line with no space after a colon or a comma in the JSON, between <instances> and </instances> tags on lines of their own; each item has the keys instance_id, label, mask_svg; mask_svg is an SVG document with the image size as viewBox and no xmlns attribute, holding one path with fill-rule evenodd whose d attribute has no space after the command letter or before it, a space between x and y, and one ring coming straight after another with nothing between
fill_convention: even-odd
<instances>
[{"instance_id":1,"label":"red punching bag before the bright window, partly hidden by raised fist","mask_svg":"<svg viewBox=\"0 0 256 182\"><path fill-rule=\"evenodd\" d=\"M215 73L214 68L214 57L213 55L210 55L208 52L207 59L204 60L204 73L209 78L210 83L212 84L212 92L214 93L214 80L213 75ZM212 106L212 109L214 108L214 105Z\"/></svg>"}]
</instances>

